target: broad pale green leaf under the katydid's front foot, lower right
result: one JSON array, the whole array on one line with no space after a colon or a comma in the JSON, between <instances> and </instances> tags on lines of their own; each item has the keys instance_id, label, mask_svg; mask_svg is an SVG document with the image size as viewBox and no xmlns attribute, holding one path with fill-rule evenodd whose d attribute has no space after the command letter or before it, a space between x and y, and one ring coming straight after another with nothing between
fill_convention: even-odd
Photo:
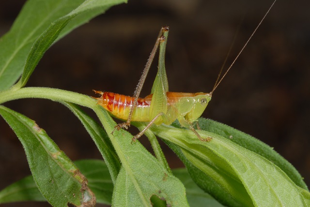
<instances>
[{"instance_id":1,"label":"broad pale green leaf under the katydid's front foot, lower right","mask_svg":"<svg viewBox=\"0 0 310 207\"><path fill-rule=\"evenodd\" d=\"M215 180L242 206L306 206L310 203L310 193L295 185L278 166L218 134L199 131L202 137L213 138L202 142L191 131L171 126L152 127L152 131L177 145L182 153L176 152L180 157L185 156L204 177ZM202 175L191 176L194 180L204 180Z\"/></svg>"}]
</instances>

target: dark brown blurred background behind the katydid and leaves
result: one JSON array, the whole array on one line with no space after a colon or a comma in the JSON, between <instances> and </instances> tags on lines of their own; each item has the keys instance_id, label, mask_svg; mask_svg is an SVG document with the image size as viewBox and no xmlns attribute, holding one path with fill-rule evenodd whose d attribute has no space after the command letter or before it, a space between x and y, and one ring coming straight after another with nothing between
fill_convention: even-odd
<instances>
[{"instance_id":1,"label":"dark brown blurred background behind the katydid and leaves","mask_svg":"<svg viewBox=\"0 0 310 207\"><path fill-rule=\"evenodd\" d=\"M1 35L10 29L23 3L0 1ZM227 67L271 4L271 0L129 0L54 44L27 86L90 96L94 95L92 89L132 95L160 27L169 25L166 69L170 91L210 92L239 25ZM310 1L276 2L203 114L274 147L308 185L309 8ZM141 96L150 93L156 64L157 59ZM35 120L73 161L101 159L81 123L61 104L23 99L4 105ZM30 170L21 144L3 119L0 132L3 189L29 175ZM141 141L149 148L146 138ZM163 148L172 168L183 166L167 147Z\"/></svg>"}]
</instances>

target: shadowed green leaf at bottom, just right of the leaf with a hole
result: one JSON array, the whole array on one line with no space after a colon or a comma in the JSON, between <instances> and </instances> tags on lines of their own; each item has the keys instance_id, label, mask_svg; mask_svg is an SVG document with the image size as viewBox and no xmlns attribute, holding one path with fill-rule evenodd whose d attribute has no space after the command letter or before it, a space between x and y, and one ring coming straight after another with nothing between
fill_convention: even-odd
<instances>
[{"instance_id":1,"label":"shadowed green leaf at bottom, just right of the leaf with a hole","mask_svg":"<svg viewBox=\"0 0 310 207\"><path fill-rule=\"evenodd\" d=\"M173 175L179 178L185 188L186 188L186 197L191 207L223 207L220 203L217 202L211 195L206 192L203 192L201 188L192 180L185 168L173 169Z\"/></svg>"}]
</instances>

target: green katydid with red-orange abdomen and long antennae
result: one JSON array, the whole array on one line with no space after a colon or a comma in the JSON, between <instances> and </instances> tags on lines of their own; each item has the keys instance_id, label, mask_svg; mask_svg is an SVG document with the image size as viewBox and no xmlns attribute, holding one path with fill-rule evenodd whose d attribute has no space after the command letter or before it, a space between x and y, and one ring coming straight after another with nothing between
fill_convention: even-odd
<instances>
[{"instance_id":1,"label":"green katydid with red-orange abdomen and long antennae","mask_svg":"<svg viewBox=\"0 0 310 207\"><path fill-rule=\"evenodd\" d=\"M263 16L263 19L268 14L275 1L270 6L266 14ZM221 73L218 75L214 88L209 93L169 92L164 59L169 27L162 27L156 39L151 55L140 77L140 81L134 92L133 97L112 92L93 90L95 93L101 95L99 98L95 98L98 100L98 104L108 110L109 113L111 113L114 117L126 120L126 122L124 123L117 124L113 132L115 130L119 130L120 128L127 129L130 126L131 121L148 122L148 125L140 133L133 137L134 141L138 139L153 124L160 125L164 123L170 125L174 120L178 119L182 127L193 131L193 133L195 133L201 141L210 141L212 139L211 137L202 138L200 136L200 134L193 127L194 123L199 117L201 117L203 111L207 107L208 103L211 101L214 90L217 88L219 83L223 80L225 75L231 69L235 60L238 59L239 55L246 47L253 34L261 25L263 19L255 28L251 36L248 38L248 41L243 46L236 58L233 60L233 63L226 70L225 74L220 79L219 77ZM146 96L145 98L139 98L142 86L154 59L158 45L158 71L151 90L151 94Z\"/></svg>"}]
</instances>

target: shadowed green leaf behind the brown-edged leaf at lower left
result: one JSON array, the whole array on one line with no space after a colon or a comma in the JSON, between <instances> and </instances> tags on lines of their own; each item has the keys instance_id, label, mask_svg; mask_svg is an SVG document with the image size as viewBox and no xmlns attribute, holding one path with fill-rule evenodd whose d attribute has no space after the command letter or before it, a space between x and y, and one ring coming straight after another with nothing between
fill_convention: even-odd
<instances>
[{"instance_id":1,"label":"shadowed green leaf behind the brown-edged leaf at lower left","mask_svg":"<svg viewBox=\"0 0 310 207\"><path fill-rule=\"evenodd\" d=\"M113 183L106 163L101 160L79 160L74 163L87 177L88 186L96 195L97 203L110 205ZM46 201L32 176L20 179L0 192L0 203L18 201Z\"/></svg>"}]
</instances>

